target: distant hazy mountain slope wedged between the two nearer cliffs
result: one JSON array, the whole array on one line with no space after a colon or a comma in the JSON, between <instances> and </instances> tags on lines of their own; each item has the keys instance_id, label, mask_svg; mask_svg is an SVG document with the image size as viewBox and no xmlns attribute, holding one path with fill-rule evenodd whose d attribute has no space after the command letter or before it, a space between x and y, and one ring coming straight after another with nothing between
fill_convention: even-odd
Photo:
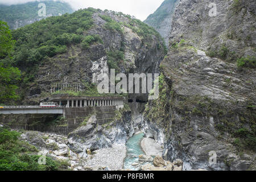
<instances>
[{"instance_id":1,"label":"distant hazy mountain slope wedged between the two nearer cliffs","mask_svg":"<svg viewBox=\"0 0 256 182\"><path fill-rule=\"evenodd\" d=\"M162 5L149 15L144 23L154 27L156 31L164 38L166 46L169 44L169 36L171 32L172 14L176 6L177 0L165 0Z\"/></svg>"}]
</instances>

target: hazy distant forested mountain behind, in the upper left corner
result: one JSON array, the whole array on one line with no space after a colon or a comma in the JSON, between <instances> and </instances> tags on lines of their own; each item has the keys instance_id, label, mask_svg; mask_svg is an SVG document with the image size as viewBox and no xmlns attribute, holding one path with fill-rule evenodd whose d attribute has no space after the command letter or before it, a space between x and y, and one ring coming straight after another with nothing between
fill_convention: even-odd
<instances>
[{"instance_id":1,"label":"hazy distant forested mountain behind, in the upper left corner","mask_svg":"<svg viewBox=\"0 0 256 182\"><path fill-rule=\"evenodd\" d=\"M38 14L39 10L43 8L39 6L40 3L46 5L46 16L39 16ZM73 13L73 9L68 3L60 1L28 2L11 6L0 5L0 20L7 22L11 29L24 27L46 17L59 16L65 13Z\"/></svg>"}]
</instances>

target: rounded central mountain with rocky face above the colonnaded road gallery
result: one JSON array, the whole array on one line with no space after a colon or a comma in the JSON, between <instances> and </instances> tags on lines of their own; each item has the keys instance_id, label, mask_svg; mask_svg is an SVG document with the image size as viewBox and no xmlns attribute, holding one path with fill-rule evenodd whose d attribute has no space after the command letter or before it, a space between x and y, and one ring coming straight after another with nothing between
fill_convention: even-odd
<instances>
[{"instance_id":1,"label":"rounded central mountain with rocky face above the colonnaded road gallery","mask_svg":"<svg viewBox=\"0 0 256 182\"><path fill-rule=\"evenodd\" d=\"M81 25L77 30L69 31L73 27L68 27L67 31L70 34L68 32L56 37L48 33L39 34L40 27L49 26L53 20L56 21L56 27L61 21L71 21L67 24L70 26L72 23L77 24L76 18L81 19L81 17L87 18L89 28ZM109 75L110 68L115 69L115 73L156 73L166 52L160 35L153 28L130 18L129 15L112 11L79 10L71 15L47 18L30 26L14 31L14 37L19 42L17 49L27 47L27 54L23 55L28 56L24 61L20 61L16 51L14 57L18 67L31 78L28 78L28 81L23 80L29 86L23 86L21 89L22 104L38 104L47 100L51 85L57 83L81 84L82 89L88 91L93 88L93 93L90 94L97 94L93 84L97 85L101 81L97 80L97 76L101 73ZM63 33L63 30L57 28L56 31ZM49 39L45 41L53 40L54 46L43 46L40 43L40 39L48 35ZM29 48L34 44L30 41L34 37L39 45L36 43ZM28 42L24 41L25 39L28 39ZM56 47L58 42L61 42L61 46ZM60 47L63 49L56 51ZM26 66L26 60L33 60L34 57L40 57L42 54L45 56L40 62L36 59ZM28 67L30 69L27 69Z\"/></svg>"}]
</instances>

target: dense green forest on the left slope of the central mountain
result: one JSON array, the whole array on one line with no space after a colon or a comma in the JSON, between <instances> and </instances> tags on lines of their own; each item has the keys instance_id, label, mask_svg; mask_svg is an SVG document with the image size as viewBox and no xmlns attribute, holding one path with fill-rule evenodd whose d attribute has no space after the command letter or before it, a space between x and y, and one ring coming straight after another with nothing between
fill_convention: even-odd
<instances>
[{"instance_id":1,"label":"dense green forest on the left slope of the central mountain","mask_svg":"<svg viewBox=\"0 0 256 182\"><path fill-rule=\"evenodd\" d=\"M16 40L14 64L23 69L29 65L29 70L35 70L31 67L42 62L45 57L67 51L70 44L81 43L82 35L74 32L92 27L94 12L94 9L85 9L70 15L49 17L13 31Z\"/></svg>"}]
</instances>

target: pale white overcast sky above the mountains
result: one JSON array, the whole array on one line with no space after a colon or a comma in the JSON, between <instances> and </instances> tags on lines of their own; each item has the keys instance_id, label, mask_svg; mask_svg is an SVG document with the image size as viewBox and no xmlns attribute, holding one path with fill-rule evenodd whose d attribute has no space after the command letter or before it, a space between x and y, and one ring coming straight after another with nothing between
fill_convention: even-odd
<instances>
[{"instance_id":1,"label":"pale white overcast sky above the mountains","mask_svg":"<svg viewBox=\"0 0 256 182\"><path fill-rule=\"evenodd\" d=\"M35 0L0 0L0 4L14 5ZM154 13L164 0L63 0L68 2L74 10L94 7L96 9L108 9L121 11L145 20L148 15Z\"/></svg>"}]
</instances>

